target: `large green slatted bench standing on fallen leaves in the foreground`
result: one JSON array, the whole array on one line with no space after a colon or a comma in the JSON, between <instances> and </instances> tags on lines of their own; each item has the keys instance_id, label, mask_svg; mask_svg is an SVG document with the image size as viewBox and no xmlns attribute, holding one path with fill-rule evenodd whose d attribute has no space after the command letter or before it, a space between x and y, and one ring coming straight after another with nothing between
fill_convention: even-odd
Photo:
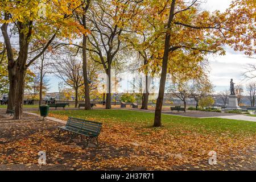
<instances>
[{"instance_id":1,"label":"large green slatted bench standing on fallen leaves in the foreground","mask_svg":"<svg viewBox=\"0 0 256 182\"><path fill-rule=\"evenodd\" d=\"M68 131L68 136L71 136L71 139L80 135L82 140L82 136L85 136L87 146L88 142L92 142L92 139L96 139L96 144L98 145L98 135L100 134L101 127L102 123L100 122L69 117L65 126L58 126L59 137L61 131Z\"/></svg>"}]
</instances>

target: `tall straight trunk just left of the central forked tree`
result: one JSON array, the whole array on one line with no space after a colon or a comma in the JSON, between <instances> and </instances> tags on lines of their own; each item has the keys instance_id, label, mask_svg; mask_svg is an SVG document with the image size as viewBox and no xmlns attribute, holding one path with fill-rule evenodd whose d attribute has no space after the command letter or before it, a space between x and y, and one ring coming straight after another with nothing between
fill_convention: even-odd
<instances>
[{"instance_id":1,"label":"tall straight trunk just left of the central forked tree","mask_svg":"<svg viewBox=\"0 0 256 182\"><path fill-rule=\"evenodd\" d=\"M88 2L89 3L89 2ZM89 6L89 4L88 4ZM82 16L82 22L84 25L84 28L86 29L86 15L84 14ZM87 57L86 57L86 40L87 35L84 34L82 36L82 72L84 75L84 89L85 89L85 110L90 110L90 90L89 90L89 80L87 75Z\"/></svg>"}]
</instances>

